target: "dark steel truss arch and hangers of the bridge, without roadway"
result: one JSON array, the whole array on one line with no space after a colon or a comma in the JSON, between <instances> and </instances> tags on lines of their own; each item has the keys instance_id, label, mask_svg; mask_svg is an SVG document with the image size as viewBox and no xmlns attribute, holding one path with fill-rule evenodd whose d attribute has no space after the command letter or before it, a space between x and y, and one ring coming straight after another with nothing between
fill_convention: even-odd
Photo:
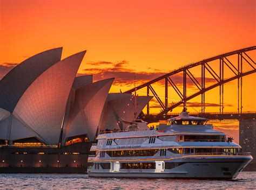
<instances>
[{"instance_id":1,"label":"dark steel truss arch and hangers of the bridge, without roadway","mask_svg":"<svg viewBox=\"0 0 256 190\"><path fill-rule=\"evenodd\" d=\"M167 73L163 76L160 76L156 79L153 79L147 83L144 83L143 85L140 85L136 87L136 90L147 88L147 95L150 95L151 93L156 97L157 101L160 104L160 107L162 108L162 111L159 112L158 116L160 115L166 115L168 111L171 111L172 109L178 107L179 105L183 104L184 107L186 106L186 102L188 100L191 100L192 98L201 95L201 112L205 112L205 92L208 90L211 90L215 87L219 86L219 110L220 114L223 113L224 110L224 84L227 82L230 82L232 80L238 80L238 113L242 113L242 77L246 75L250 75L256 72L255 68L255 61L248 55L247 52L252 52L256 50L256 46L251 46L247 48L242 48L240 50L235 50L232 52L224 53L217 55L212 58L203 59L201 61L185 65L184 67L180 67L178 69L174 69L171 73ZM230 61L231 55L237 55L237 66L234 65ZM214 69L208 64L208 62L219 60L219 72L215 72ZM243 66L247 64L250 67L250 70L243 71ZM201 78L198 80L192 72L190 71L191 68L201 66ZM224 79L224 66L228 68L232 73L234 73L233 76L230 78ZM205 86L205 71L210 73L213 79L215 79L216 83L214 83L211 86ZM171 76L177 73L183 72L183 92L180 92L176 84L172 81ZM198 92L194 93L192 95L187 96L187 79L190 79L193 84L198 88ZM156 91L151 86L153 83L156 83L160 80L165 80L165 101L161 101L159 96L157 95ZM171 85L172 88L175 90L175 92L180 97L180 101L177 103L173 103L170 107L168 106L168 85ZM133 93L135 91L135 88L127 90L125 93ZM149 115L149 104L147 104L147 115Z\"/></svg>"}]
</instances>

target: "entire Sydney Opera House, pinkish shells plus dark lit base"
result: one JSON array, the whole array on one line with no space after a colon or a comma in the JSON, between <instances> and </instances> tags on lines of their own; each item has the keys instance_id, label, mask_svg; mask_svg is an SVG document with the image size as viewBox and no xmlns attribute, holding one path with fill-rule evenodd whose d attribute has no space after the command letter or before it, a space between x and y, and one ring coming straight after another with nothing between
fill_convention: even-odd
<instances>
[{"instance_id":1,"label":"entire Sydney Opera House, pinkish shells plus dark lit base","mask_svg":"<svg viewBox=\"0 0 256 190\"><path fill-rule=\"evenodd\" d=\"M0 172L85 172L97 133L134 118L132 94L109 94L113 78L76 76L85 53L48 50L0 80ZM137 97L136 117L150 99Z\"/></svg>"}]
</instances>

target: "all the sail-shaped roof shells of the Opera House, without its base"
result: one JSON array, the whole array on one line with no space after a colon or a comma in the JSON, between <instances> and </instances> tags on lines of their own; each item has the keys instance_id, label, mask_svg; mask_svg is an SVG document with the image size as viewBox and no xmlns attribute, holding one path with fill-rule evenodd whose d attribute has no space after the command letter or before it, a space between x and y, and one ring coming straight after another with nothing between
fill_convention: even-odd
<instances>
[{"instance_id":1,"label":"all the sail-shaped roof shells of the Opera House, without its base","mask_svg":"<svg viewBox=\"0 0 256 190\"><path fill-rule=\"evenodd\" d=\"M109 94L113 78L93 82L92 75L76 76L85 53L61 60L62 48L54 48L0 80L0 144L34 138L64 146L77 138L93 142L99 130L125 128L120 121L133 119L133 96ZM151 98L138 96L136 117Z\"/></svg>"}]
</instances>

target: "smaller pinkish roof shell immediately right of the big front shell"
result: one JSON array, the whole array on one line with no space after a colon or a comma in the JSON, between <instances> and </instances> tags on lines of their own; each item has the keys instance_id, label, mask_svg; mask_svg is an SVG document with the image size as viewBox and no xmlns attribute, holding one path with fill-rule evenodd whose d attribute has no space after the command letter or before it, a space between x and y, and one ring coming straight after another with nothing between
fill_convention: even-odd
<instances>
[{"instance_id":1,"label":"smaller pinkish roof shell immediately right of the big front shell","mask_svg":"<svg viewBox=\"0 0 256 190\"><path fill-rule=\"evenodd\" d=\"M114 79L91 83L76 90L64 138L87 134L94 140L107 94Z\"/></svg>"}]
</instances>

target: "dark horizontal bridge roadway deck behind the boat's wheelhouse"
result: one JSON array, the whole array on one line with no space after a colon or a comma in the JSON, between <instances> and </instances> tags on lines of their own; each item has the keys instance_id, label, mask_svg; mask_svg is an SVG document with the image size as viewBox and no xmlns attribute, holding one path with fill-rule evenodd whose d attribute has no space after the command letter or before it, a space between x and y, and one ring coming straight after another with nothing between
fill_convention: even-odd
<instances>
[{"instance_id":1,"label":"dark horizontal bridge roadway deck behind the boat's wheelhouse","mask_svg":"<svg viewBox=\"0 0 256 190\"><path fill-rule=\"evenodd\" d=\"M167 120L171 117L176 117L179 114L173 113L168 115L157 115L150 114L142 116L142 119L148 123L158 122L159 120ZM248 112L223 112L223 114L219 112L205 112L202 113L190 113L191 116L195 117L205 117L210 120L218 120L218 121L239 121L239 120L253 120L256 119L256 111L248 111Z\"/></svg>"}]
</instances>

